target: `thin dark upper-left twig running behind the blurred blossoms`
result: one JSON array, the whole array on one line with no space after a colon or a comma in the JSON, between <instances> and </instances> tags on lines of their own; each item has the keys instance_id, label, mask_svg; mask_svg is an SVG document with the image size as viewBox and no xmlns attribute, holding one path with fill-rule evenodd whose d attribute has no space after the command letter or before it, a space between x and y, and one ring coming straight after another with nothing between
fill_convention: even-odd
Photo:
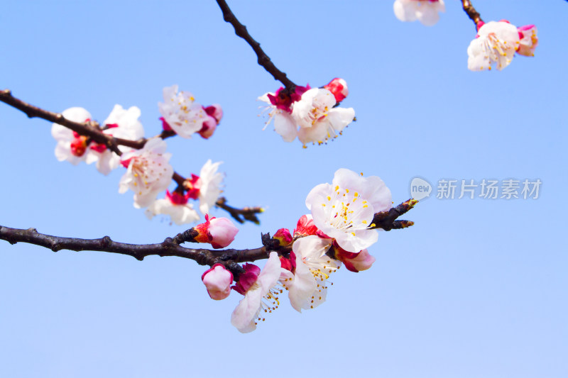
<instances>
[{"instance_id":1,"label":"thin dark upper-left twig running behind the blurred blossoms","mask_svg":"<svg viewBox=\"0 0 568 378\"><path fill-rule=\"evenodd\" d=\"M84 135L89 137L91 140L94 140L97 143L102 143L106 145L111 151L116 153L116 155L122 155L121 150L119 150L119 145L125 145L130 148L135 148L140 150L141 148L146 145L147 139L141 138L139 140L128 140L122 138L114 138L112 135L107 135L102 132L99 127L99 123L95 121L88 121L84 123L80 122L73 122L69 121L67 118L62 116L60 113L53 113L51 111L46 111L44 109L40 109L37 106L33 106L28 104L21 99L16 99L16 97L12 96L11 91L9 89L4 89L4 91L0 91L0 101L16 108L28 116L28 118L42 118L45 121L50 121L54 123L58 123L61 126L65 126L70 130L76 131L80 135ZM171 130L163 130L158 136L162 139L169 138L175 135L175 132ZM183 187L183 183L185 182L185 177L183 177L178 172L173 173L172 179L180 186ZM244 221L251 221L256 224L259 223L258 218L256 218L256 213L261 213L262 209L260 207L245 207L243 209L235 209L231 206L225 205L226 199L223 197L217 200L217 206L221 209L228 211L231 216L238 221L239 223L244 223Z\"/></svg>"}]
</instances>

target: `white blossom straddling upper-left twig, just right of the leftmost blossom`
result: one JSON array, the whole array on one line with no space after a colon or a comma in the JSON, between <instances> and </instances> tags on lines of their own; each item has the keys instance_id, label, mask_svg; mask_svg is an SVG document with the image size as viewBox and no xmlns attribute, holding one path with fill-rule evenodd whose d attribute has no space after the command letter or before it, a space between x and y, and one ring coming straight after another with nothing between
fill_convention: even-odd
<instances>
[{"instance_id":1,"label":"white blossom straddling upper-left twig, just right of the leftmost blossom","mask_svg":"<svg viewBox=\"0 0 568 378\"><path fill-rule=\"evenodd\" d=\"M131 106L128 110L116 104L108 118L103 123L103 133L112 135L115 138L128 140L138 140L144 136L144 128L140 121L140 109ZM128 152L131 148L123 145L119 146L121 152ZM91 164L97 162L97 169L102 174L109 174L113 169L120 165L121 157L109 150L106 145L92 142L87 151L86 162Z\"/></svg>"}]
</instances>

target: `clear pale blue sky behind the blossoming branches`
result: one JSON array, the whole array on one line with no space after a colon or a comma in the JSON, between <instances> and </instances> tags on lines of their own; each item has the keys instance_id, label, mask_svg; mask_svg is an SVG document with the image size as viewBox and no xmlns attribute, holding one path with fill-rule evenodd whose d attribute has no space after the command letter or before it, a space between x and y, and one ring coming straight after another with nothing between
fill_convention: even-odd
<instances>
[{"instance_id":1,"label":"clear pale blue sky behind the blossoming branches","mask_svg":"<svg viewBox=\"0 0 568 378\"><path fill-rule=\"evenodd\" d=\"M246 335L229 322L241 296L210 300L191 260L1 241L0 377L568 377L566 1L474 1L485 21L539 28L536 57L502 72L467 70L475 30L457 0L432 28L398 21L391 0L229 6L297 84L346 79L357 121L344 135L302 149L262 131L256 97L280 84L213 0L6 2L0 89L98 121L138 106L146 135L163 87L222 104L210 140L168 150L186 176L223 161L229 204L266 207L234 248L293 228L341 167L380 176L396 203L414 177L430 182L415 226L381 233L375 265L334 274L322 306L286 299ZM0 104L0 127L1 225L126 243L185 229L134 209L120 170L58 162L50 123ZM436 199L440 179L542 185L538 199Z\"/></svg>"}]
</instances>

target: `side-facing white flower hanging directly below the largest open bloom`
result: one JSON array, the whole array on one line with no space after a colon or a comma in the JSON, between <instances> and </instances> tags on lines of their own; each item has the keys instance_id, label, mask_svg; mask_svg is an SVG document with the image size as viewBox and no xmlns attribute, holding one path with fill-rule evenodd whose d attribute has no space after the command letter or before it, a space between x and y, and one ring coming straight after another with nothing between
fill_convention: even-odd
<instances>
[{"instance_id":1,"label":"side-facing white flower hanging directly below the largest open bloom","mask_svg":"<svg viewBox=\"0 0 568 378\"><path fill-rule=\"evenodd\" d=\"M325 301L329 274L342 265L326 255L332 242L332 239L310 235L297 239L292 245L290 258L295 257L294 276L283 279L283 285L288 288L290 304L296 311L315 308Z\"/></svg>"}]
</instances>

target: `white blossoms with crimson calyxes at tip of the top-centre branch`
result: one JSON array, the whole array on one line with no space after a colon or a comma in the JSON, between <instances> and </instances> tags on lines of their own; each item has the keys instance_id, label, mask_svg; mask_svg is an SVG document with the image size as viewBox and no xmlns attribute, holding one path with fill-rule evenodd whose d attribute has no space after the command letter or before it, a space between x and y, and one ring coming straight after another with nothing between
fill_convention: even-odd
<instances>
[{"instance_id":1,"label":"white blossoms with crimson calyxes at tip of the top-centre branch","mask_svg":"<svg viewBox=\"0 0 568 378\"><path fill-rule=\"evenodd\" d=\"M349 90L344 79L333 79L322 88L295 87L289 91L280 87L275 93L258 97L268 104L268 121L274 120L274 130L285 142L297 137L306 143L322 144L337 138L342 130L354 121L353 108L339 108Z\"/></svg>"}]
</instances>

